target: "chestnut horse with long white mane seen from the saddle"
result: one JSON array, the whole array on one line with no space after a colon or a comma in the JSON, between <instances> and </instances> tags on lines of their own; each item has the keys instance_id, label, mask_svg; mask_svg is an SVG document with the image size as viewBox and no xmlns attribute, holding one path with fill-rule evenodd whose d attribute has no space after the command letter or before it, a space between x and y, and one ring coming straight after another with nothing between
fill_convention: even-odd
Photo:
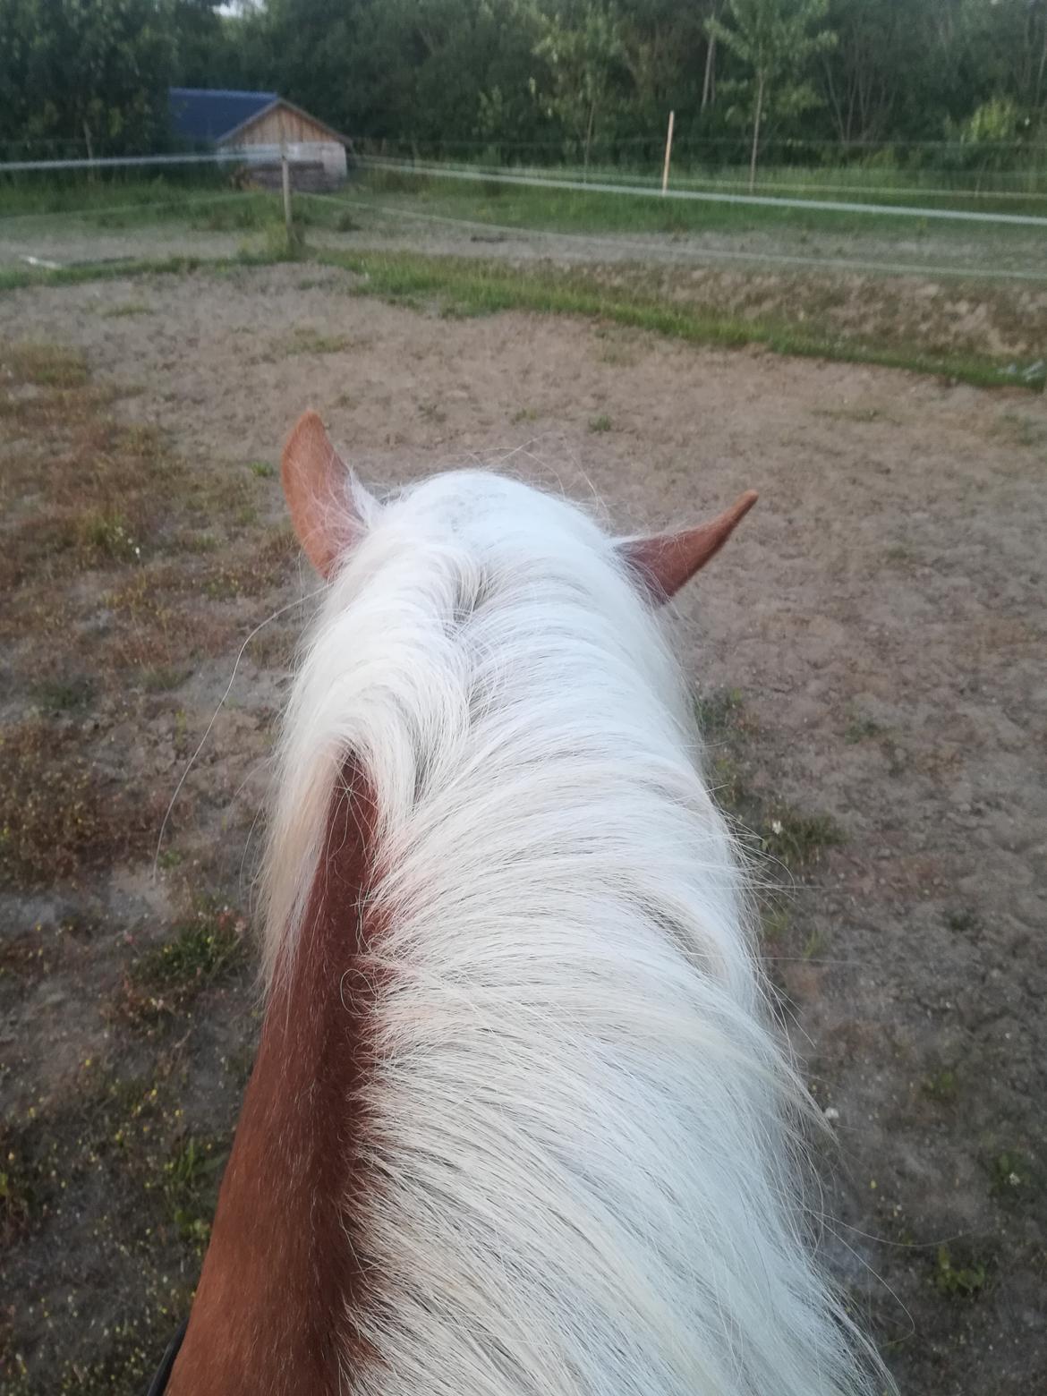
<instances>
[{"instance_id":1,"label":"chestnut horse with long white mane seen from the saddle","mask_svg":"<svg viewBox=\"0 0 1047 1396\"><path fill-rule=\"evenodd\" d=\"M755 494L627 539L483 470L378 500L313 413L282 480L322 600L168 1396L891 1388L812 1255L817 1111L662 625Z\"/></svg>"}]
</instances>

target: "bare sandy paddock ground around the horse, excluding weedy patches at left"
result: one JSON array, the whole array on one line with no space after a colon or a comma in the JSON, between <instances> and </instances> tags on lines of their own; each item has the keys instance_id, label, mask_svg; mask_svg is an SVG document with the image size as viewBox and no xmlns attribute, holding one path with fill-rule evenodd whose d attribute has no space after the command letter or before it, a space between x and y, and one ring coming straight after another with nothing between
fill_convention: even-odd
<instances>
[{"instance_id":1,"label":"bare sandy paddock ground around the horse, excluding weedy patches at left","mask_svg":"<svg viewBox=\"0 0 1047 1396\"><path fill-rule=\"evenodd\" d=\"M216 473L275 461L314 406L377 484L497 463L595 494L630 529L759 490L683 600L680 637L702 691L740 694L745 737L732 755L757 794L843 833L768 938L839 1145L824 1170L824 1247L903 1390L1044 1389L1043 399L564 318L440 320L353 289L313 267L34 289L0 300L0 336L81 346L101 380L138 388L123 417L159 426ZM121 303L135 313L103 314ZM310 349L321 341L327 352ZM278 518L276 483L264 489ZM289 565L276 603L302 585ZM264 614L242 609L242 634ZM179 691L190 734L236 648ZM180 836L221 842L233 879L264 790L262 719L285 683L279 662L247 663L187 787ZM21 698L4 697L13 720ZM119 741L163 794L183 762L162 720L124 720ZM96 895L120 934L172 914L142 864L114 867ZM10 937L54 914L46 896L6 906ZM119 958L116 940L106 953ZM197 1030L186 1108L201 1118L235 1106L228 1086L221 1108L208 1096L208 1061L250 1044L248 1004L247 991L214 1000ZM43 979L0 1008L6 1110L45 1087L52 1100L75 1092L75 1064L106 1050L99 1005L78 1001L74 981ZM60 1240L20 1242L20 1283L46 1287L57 1244L94 1244L95 1206L85 1198ZM127 1283L113 1259L81 1307L109 1312ZM8 1318L32 1357L39 1329L18 1304ZM40 1351L34 1361L47 1371Z\"/></svg>"}]
</instances>

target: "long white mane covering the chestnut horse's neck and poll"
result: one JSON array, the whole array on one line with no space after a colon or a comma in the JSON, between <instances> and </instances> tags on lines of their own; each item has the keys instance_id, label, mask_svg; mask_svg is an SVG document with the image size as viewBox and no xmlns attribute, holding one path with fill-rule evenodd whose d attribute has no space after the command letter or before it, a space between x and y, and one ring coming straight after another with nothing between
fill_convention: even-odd
<instances>
[{"instance_id":1,"label":"long white mane covering the chestnut horse's neck and poll","mask_svg":"<svg viewBox=\"0 0 1047 1396\"><path fill-rule=\"evenodd\" d=\"M352 752L384 930L381 1182L353 1233L376 1302L349 1315L380 1360L346 1388L882 1392L807 1256L805 1096L680 671L610 540L483 473L362 507L286 718L265 945L272 974Z\"/></svg>"}]
</instances>

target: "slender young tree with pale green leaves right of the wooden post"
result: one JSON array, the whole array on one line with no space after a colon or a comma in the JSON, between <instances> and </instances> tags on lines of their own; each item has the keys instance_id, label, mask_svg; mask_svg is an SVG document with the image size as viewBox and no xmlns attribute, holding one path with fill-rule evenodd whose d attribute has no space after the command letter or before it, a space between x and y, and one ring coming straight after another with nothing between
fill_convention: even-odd
<instances>
[{"instance_id":1,"label":"slender young tree with pale green leaves right of the wooden post","mask_svg":"<svg viewBox=\"0 0 1047 1396\"><path fill-rule=\"evenodd\" d=\"M801 80L808 60L832 47L832 29L811 32L824 20L829 0L727 0L726 13L733 21L708 21L709 36L716 38L752 70L748 84L752 120L752 149L748 187L757 184L759 128L772 103L780 113L796 114L817 106L810 82Z\"/></svg>"}]
</instances>

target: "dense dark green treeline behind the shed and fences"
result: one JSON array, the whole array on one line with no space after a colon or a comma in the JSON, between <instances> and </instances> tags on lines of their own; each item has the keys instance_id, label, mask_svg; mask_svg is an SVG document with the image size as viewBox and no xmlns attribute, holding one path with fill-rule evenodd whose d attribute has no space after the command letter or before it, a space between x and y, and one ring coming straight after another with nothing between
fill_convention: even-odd
<instances>
[{"instance_id":1,"label":"dense dark green treeline behind the shed and fences","mask_svg":"<svg viewBox=\"0 0 1047 1396\"><path fill-rule=\"evenodd\" d=\"M170 144L166 88L279 91L416 155L1000 161L1047 137L1047 0L0 0L0 142ZM885 154L882 147L891 147ZM941 155L941 152L938 152Z\"/></svg>"}]
</instances>

